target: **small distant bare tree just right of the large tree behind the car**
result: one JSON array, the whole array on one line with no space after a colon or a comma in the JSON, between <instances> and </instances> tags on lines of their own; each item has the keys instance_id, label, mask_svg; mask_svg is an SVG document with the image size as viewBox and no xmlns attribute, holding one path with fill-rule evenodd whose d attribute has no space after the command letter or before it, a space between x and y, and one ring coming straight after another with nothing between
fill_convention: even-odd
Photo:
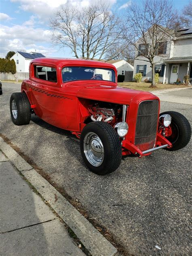
<instances>
[{"instance_id":1,"label":"small distant bare tree just right of the large tree behind the car","mask_svg":"<svg viewBox=\"0 0 192 256\"><path fill-rule=\"evenodd\" d=\"M119 44L111 47L105 54L106 60L126 60L134 65L134 47L132 45Z\"/></svg>"}]
</instances>

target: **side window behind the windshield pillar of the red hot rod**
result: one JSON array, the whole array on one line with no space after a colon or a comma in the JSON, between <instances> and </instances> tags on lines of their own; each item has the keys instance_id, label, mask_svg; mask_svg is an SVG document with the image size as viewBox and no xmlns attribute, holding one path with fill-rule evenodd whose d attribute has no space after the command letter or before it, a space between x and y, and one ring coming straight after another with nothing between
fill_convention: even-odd
<instances>
[{"instance_id":1,"label":"side window behind the windshield pillar of the red hot rod","mask_svg":"<svg viewBox=\"0 0 192 256\"><path fill-rule=\"evenodd\" d=\"M55 68L34 66L34 76L42 80L57 83L57 72Z\"/></svg>"}]
</instances>

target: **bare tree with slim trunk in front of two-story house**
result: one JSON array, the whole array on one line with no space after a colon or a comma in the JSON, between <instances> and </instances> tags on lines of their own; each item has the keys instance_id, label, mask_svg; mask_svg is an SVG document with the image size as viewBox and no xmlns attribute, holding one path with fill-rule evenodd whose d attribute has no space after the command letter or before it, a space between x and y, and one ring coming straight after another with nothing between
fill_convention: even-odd
<instances>
[{"instance_id":1,"label":"bare tree with slim trunk in front of two-story house","mask_svg":"<svg viewBox=\"0 0 192 256\"><path fill-rule=\"evenodd\" d=\"M150 62L152 68L152 82L150 87L156 87L154 57L164 45L164 42L173 36L170 29L174 18L174 11L169 0L144 0L141 4L135 3L126 10L126 25L124 39L135 47L136 57L139 53L142 60ZM138 57L137 57L138 60Z\"/></svg>"}]
</instances>

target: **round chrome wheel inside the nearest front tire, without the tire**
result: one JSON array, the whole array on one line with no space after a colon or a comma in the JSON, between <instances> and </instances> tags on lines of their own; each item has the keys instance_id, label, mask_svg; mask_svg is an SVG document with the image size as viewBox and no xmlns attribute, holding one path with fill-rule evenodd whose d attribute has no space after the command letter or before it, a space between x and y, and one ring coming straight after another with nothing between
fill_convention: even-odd
<instances>
[{"instance_id":1,"label":"round chrome wheel inside the nearest front tire, without the tire","mask_svg":"<svg viewBox=\"0 0 192 256\"><path fill-rule=\"evenodd\" d=\"M94 132L88 132L83 141L84 153L93 166L100 166L104 160L104 147Z\"/></svg>"}]
</instances>

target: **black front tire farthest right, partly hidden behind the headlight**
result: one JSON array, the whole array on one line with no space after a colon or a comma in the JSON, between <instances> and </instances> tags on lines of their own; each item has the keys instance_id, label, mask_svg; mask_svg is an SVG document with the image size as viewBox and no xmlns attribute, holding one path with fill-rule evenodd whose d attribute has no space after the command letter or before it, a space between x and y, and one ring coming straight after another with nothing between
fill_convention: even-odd
<instances>
[{"instance_id":1,"label":"black front tire farthest right, partly hidden behind the headlight","mask_svg":"<svg viewBox=\"0 0 192 256\"><path fill-rule=\"evenodd\" d=\"M191 138L191 126L190 123L188 122L188 119L184 117L184 115L175 112L175 111L166 111L160 114L165 115L169 114L171 115L171 130L172 134L169 137L166 137L168 141L172 143L171 148L164 148L169 151L176 151L179 150L183 147L185 147Z\"/></svg>"}]
</instances>

